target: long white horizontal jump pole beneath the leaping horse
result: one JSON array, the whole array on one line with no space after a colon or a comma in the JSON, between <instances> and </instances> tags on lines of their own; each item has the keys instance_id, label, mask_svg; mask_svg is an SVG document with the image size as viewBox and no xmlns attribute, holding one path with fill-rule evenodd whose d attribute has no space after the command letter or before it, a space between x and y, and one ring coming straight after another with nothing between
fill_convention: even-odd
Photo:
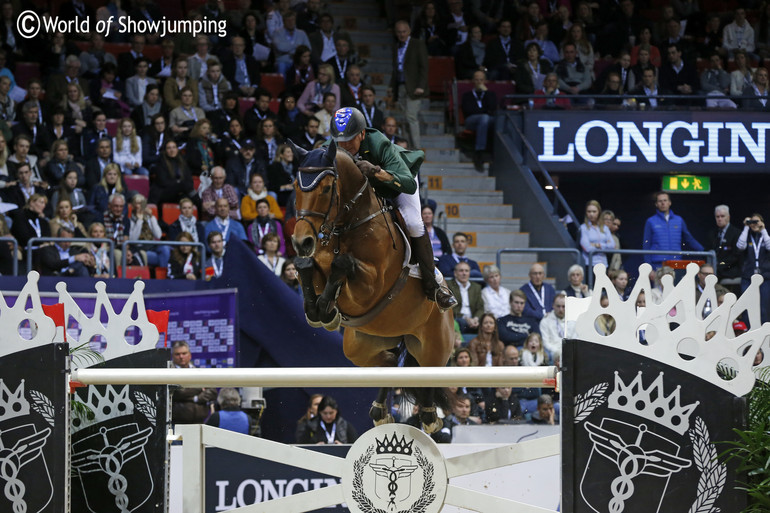
<instances>
[{"instance_id":1,"label":"long white horizontal jump pole beneath the leaping horse","mask_svg":"<svg viewBox=\"0 0 770 513\"><path fill-rule=\"evenodd\" d=\"M292 367L229 369L77 369L85 385L186 387L545 387L556 386L556 367Z\"/></svg>"}]
</instances>

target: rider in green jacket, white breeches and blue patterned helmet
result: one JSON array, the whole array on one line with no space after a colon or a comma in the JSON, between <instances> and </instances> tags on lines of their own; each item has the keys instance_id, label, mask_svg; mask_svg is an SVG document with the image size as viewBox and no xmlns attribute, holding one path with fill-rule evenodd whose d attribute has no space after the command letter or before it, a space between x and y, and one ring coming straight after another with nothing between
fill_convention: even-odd
<instances>
[{"instance_id":1,"label":"rider in green jacket, white breeches and blue patterned helmet","mask_svg":"<svg viewBox=\"0 0 770 513\"><path fill-rule=\"evenodd\" d=\"M378 130L367 128L364 115L352 107L334 113L331 136L337 146L355 157L356 165L369 177L375 192L392 199L401 212L420 266L425 295L444 310L457 305L452 293L436 281L433 245L422 223L420 190L415 176L425 153L392 144Z\"/></svg>"}]
</instances>

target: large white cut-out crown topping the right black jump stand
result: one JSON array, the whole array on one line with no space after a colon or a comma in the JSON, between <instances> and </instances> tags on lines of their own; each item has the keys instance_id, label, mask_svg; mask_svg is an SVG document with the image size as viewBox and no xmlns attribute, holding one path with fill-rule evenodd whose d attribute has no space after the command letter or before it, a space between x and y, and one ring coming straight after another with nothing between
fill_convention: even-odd
<instances>
[{"instance_id":1,"label":"large white cut-out crown topping the right black jump stand","mask_svg":"<svg viewBox=\"0 0 770 513\"><path fill-rule=\"evenodd\" d=\"M567 316L576 318L575 338L676 367L735 396L751 391L755 381L754 357L770 336L770 323L762 325L759 315L762 277L755 274L740 298L728 293L718 305L716 276L706 278L706 286L696 301L698 266L689 264L686 275L676 286L670 276L663 277L662 299L655 303L650 270L649 264L639 266L639 278L628 299L623 301L607 277L605 266L594 266L594 294L586 299L567 298ZM607 307L601 306L602 292L607 293ZM637 309L636 302L642 293L646 306ZM582 313L570 314L571 309ZM736 336L732 323L744 311L748 313L751 329ZM612 333L602 334L596 330L594 322L601 315L614 318L616 327ZM641 332L645 334L644 341ZM724 369L729 372L723 372Z\"/></svg>"}]
</instances>

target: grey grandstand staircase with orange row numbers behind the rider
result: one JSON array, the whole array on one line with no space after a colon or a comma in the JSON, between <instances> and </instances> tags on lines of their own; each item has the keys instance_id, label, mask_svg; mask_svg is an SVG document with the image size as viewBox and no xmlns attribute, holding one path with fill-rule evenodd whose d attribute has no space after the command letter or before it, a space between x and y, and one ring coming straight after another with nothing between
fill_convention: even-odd
<instances>
[{"instance_id":1,"label":"grey grandstand staircase with orange row numbers behind the rider","mask_svg":"<svg viewBox=\"0 0 770 513\"><path fill-rule=\"evenodd\" d=\"M333 2L329 11L340 29L350 33L358 55L365 59L361 71L375 88L377 98L385 98L390 83L393 34L380 17L375 0ZM447 134L447 102L423 100L419 113L422 145L426 161L420 172L421 197L438 204L435 223L444 228L450 239L454 232L469 235L467 255L484 265L494 264L497 250L528 247L529 234L521 233L519 220L513 218L513 207L503 204L503 193L495 190L495 179L477 173L469 160L455 147L455 137ZM392 115L400 126L405 117L389 111L381 102L385 115ZM537 261L532 253L504 254L502 285L511 290L529 280L529 267Z\"/></svg>"}]
</instances>

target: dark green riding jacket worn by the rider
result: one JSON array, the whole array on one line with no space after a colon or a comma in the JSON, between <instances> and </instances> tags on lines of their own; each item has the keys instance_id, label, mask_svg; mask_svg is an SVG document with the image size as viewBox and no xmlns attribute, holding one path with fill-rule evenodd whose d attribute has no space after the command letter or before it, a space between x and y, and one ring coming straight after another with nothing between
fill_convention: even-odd
<instances>
[{"instance_id":1,"label":"dark green riding jacket worn by the rider","mask_svg":"<svg viewBox=\"0 0 770 513\"><path fill-rule=\"evenodd\" d=\"M405 150L391 143L379 130L367 128L358 154L393 175L388 182L372 180L374 190L383 198L395 198L400 193L414 194L417 190L415 177L425 160L422 150Z\"/></svg>"}]
</instances>

